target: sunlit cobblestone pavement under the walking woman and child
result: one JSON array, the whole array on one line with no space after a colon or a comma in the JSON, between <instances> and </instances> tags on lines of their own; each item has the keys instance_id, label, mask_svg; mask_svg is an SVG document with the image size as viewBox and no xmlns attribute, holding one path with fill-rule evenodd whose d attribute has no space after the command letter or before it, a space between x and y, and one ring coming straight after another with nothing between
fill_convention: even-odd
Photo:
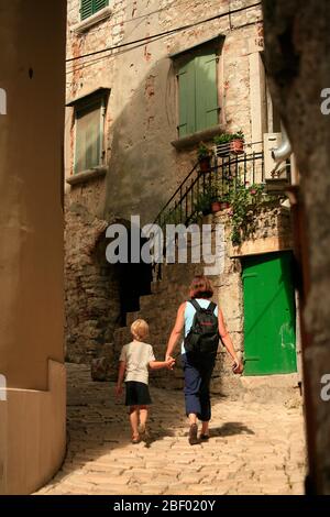
<instances>
[{"instance_id":1,"label":"sunlit cobblestone pavement under the walking woman and child","mask_svg":"<svg viewBox=\"0 0 330 517\"><path fill-rule=\"evenodd\" d=\"M69 364L67 457L38 494L302 494L301 408L213 398L211 438L191 447L183 393L151 394L151 441L133 446L113 384Z\"/></svg>"}]
</instances>

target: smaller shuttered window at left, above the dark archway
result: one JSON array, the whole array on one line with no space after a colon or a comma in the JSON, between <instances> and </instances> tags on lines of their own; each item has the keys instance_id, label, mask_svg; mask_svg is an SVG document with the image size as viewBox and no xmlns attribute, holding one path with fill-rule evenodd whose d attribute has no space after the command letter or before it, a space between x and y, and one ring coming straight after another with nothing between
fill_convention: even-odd
<instances>
[{"instance_id":1,"label":"smaller shuttered window at left, above the dark archway","mask_svg":"<svg viewBox=\"0 0 330 517\"><path fill-rule=\"evenodd\" d=\"M99 88L67 106L75 107L74 172L82 173L103 165L106 102L109 90Z\"/></svg>"}]
</instances>

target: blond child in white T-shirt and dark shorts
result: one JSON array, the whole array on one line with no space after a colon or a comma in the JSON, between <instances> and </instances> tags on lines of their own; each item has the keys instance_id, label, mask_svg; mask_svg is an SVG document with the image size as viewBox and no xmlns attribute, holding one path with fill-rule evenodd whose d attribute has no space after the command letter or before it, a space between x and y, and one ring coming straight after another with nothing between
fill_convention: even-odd
<instances>
[{"instance_id":1,"label":"blond child in white T-shirt and dark shorts","mask_svg":"<svg viewBox=\"0 0 330 517\"><path fill-rule=\"evenodd\" d=\"M170 370L175 360L156 361L151 344L144 342L148 336L148 324L143 319L135 320L131 326L133 341L122 348L119 358L119 374L116 387L117 396L122 393L125 376L125 405L130 407L132 443L139 443L145 433L147 406L152 404L148 393L148 367L152 370ZM140 422L140 427L139 427Z\"/></svg>"}]
</instances>

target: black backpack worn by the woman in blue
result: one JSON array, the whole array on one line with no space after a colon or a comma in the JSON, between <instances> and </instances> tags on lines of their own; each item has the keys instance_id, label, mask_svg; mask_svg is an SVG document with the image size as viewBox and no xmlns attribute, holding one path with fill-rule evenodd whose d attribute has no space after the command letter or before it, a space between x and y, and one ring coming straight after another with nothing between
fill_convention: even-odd
<instances>
[{"instance_id":1,"label":"black backpack worn by the woman in blue","mask_svg":"<svg viewBox=\"0 0 330 517\"><path fill-rule=\"evenodd\" d=\"M195 299L188 302L195 307L196 312L191 329L185 338L186 352L216 355L220 339L218 318L215 315L217 305L210 301L209 306L204 309Z\"/></svg>"}]
</instances>

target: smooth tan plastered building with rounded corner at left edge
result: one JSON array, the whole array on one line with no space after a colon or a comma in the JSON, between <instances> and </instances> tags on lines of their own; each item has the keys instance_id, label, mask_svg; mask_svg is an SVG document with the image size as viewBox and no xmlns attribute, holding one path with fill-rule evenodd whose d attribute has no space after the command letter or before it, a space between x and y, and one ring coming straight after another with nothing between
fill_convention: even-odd
<instances>
[{"instance_id":1,"label":"smooth tan plastered building with rounded corner at left edge","mask_svg":"<svg viewBox=\"0 0 330 517\"><path fill-rule=\"evenodd\" d=\"M64 0L0 4L1 495L32 493L65 454L65 21Z\"/></svg>"}]
</instances>

